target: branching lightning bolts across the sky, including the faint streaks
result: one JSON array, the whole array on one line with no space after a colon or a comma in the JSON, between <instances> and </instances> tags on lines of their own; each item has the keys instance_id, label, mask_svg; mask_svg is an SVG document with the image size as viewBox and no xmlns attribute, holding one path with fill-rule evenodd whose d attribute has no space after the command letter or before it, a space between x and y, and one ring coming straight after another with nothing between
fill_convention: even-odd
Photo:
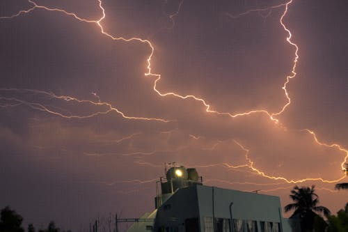
<instances>
[{"instance_id":1,"label":"branching lightning bolts across the sky, including the faint streaks","mask_svg":"<svg viewBox=\"0 0 348 232\"><path fill-rule=\"evenodd\" d=\"M105 14L105 10L102 6L102 0L97 0L97 2L99 3L99 8L102 12L102 15L99 19L97 20L88 20L88 19L84 19L82 17L79 17L76 13L70 13L66 10L63 9L59 9L59 8L49 8L47 6L41 6L38 5L38 3L35 3L35 1L32 0L28 0L29 3L31 3L33 6L31 8L29 8L28 10L20 10L18 13L11 15L11 16L4 16L4 17L0 17L0 20L10 20L13 19L14 17L19 17L20 15L26 15L28 13L33 12L33 10L35 9L42 9L42 10L48 10L48 11L54 11L54 12L58 12L58 13L63 13L65 15L68 15L70 17L73 17L75 20L79 20L80 22L85 22L85 23L89 23L89 24L95 24L99 29L100 29L100 33L102 33L104 36L106 36L107 38L110 38L111 40L115 40L115 41L121 41L121 42L141 42L145 45L147 45L150 48L150 54L148 55L148 58L146 60L147 62L147 66L146 69L147 71L145 72L145 77L155 77L155 81L153 84L153 91L155 91L155 93L157 93L159 96L161 97L174 97L174 98L180 98L182 100L195 100L200 102L203 107L205 107L205 111L207 113L210 114L216 114L216 115L220 115L220 116L229 116L230 118L236 118L236 117L240 117L240 116L247 116L247 115L251 115L251 114L266 114L271 121L274 121L274 123L279 123L279 119L277 118L278 116L280 116L281 114L283 114L283 112L285 111L285 109L287 109L287 107L290 106L291 104L291 98L290 95L287 91L287 85L290 83L290 80L293 79L294 77L296 77L296 65L297 62L299 61L299 47L292 41L292 33L290 31L290 29L287 28L287 26L285 25L285 23L283 22L285 15L287 15L287 10L289 9L290 5L293 3L293 0L289 0L286 3L281 3L277 6L270 6L268 8L261 8L261 9L251 9L248 10L244 13L241 13L239 15L230 15L228 14L230 17L232 18L237 18L237 17L242 17L244 15L247 15L249 13L260 13L260 12L266 12L267 10L269 10L269 13L265 16L267 17L269 14L271 14L271 10L275 9L275 8L282 8L284 7L285 10L283 11L283 14L280 16L280 25L283 27L284 31L287 33L287 42L294 47L294 60L293 60L293 64L292 64L292 70L291 70L291 74L287 75L286 79L285 79L285 83L283 84L283 91L285 94L285 98L287 99L287 101L285 102L285 105L283 105L283 107L280 108L279 111L277 112L269 112L266 109L253 109L250 111L246 111L246 112L239 112L239 113L230 113L230 112L220 112L220 111L216 111L214 109L212 109L212 106L209 105L207 103L207 100L197 97L196 95L180 95L179 93L175 93L175 92L167 92L167 93L162 93L161 91L159 91L157 89L157 83L160 81L161 79L161 75L152 72L152 56L155 53L155 47L152 45L152 43L150 42L150 40L147 39L143 39L143 38L137 38L137 37L132 37L132 38L124 38L122 36L112 36L110 33L106 32L104 30L104 27L102 25L102 21L105 19L106 14ZM177 10L176 13L174 13L173 15L170 15L170 20L173 23L174 26L174 17L177 16L177 14L180 11L180 8L182 7L182 3L183 0L180 1L180 5L179 8ZM22 99L18 99L18 98L13 98L13 97L1 97L0 100L4 101L4 102L9 102L6 104L1 103L0 107L15 107L18 105L26 105L28 107L31 107L32 109L36 109L39 111L45 111L49 114L54 114L56 116L61 116L63 118L90 118L93 116L97 116L100 114L109 114L111 111L116 111L117 114L120 114L120 116L122 116L123 118L126 119L133 119L133 120L145 120L145 121L161 121L164 123L169 122L170 120L166 120L163 118L146 118L146 117L135 117L135 116L127 116L125 113L123 113L122 111L120 111L119 109L117 109L116 107L113 107L111 104L109 104L108 102L101 102L100 97L96 94L93 93L93 95L95 95L95 98L97 98L97 102L92 101L92 100L79 100L77 98L71 97L71 96L67 96L67 95L55 95L54 93L49 93L46 91L37 91L37 90L30 90L30 89L24 89L24 90L20 90L20 89L16 89L16 88L6 88L6 89L1 89L1 91L15 91L15 92L21 92L21 91L26 91L26 92L30 92L30 93L35 93L35 94L42 94L42 95L46 95L49 98L52 99L57 99L57 100L65 100L65 101L74 101L77 103L86 103L89 105L93 105L93 106L97 106L97 107L105 107L104 111L96 111L92 114L88 114L88 115L74 115L74 114L64 114L62 112L58 112L58 111L54 111L52 108L47 107L47 105L41 104L39 102L28 102L26 100L22 100ZM330 148L337 148L338 150L340 150L342 153L345 153L345 160L342 162L341 167L343 170L345 170L344 168L344 164L345 162L347 162L348 159L348 150L346 150L345 148L342 148L342 146L340 146L339 144L324 144L320 141L318 141L317 136L315 134L315 132L313 132L312 130L305 130L306 132L310 133L313 135L313 139L315 140L315 142L320 145L320 146L326 146L326 147L330 147ZM133 135L134 136L134 135ZM192 137L193 139L200 139L200 137L196 137L193 135L189 135L190 137ZM129 138L125 138L125 139L129 139ZM121 139L120 141L123 141L124 139ZM345 178L345 176L342 176L341 178L335 179L335 180L324 180L323 178L304 178L301 180L290 180L281 176L270 176L269 174L265 173L264 171L260 171L260 169L256 168L254 165L254 162L250 159L250 157L248 157L248 153L249 150L244 148L244 146L242 146L242 144L240 144L239 142L235 141L235 143L242 148L242 150L245 151L246 153L246 164L242 164L242 165L237 165L237 166L233 166L230 164L223 164L226 167L230 168L230 169L251 169L251 171L253 171L254 173L257 173L258 175L264 177L264 178L268 178L271 180L280 180L283 181L287 184L296 184L296 183L303 183L305 181L311 180L311 181L321 181L322 183L336 183L340 180L342 180L343 178ZM214 149L219 143L216 143L216 145L214 145L214 147L212 149ZM136 153L126 153L126 154L122 154L122 155L153 155L155 153L157 153L158 151L154 150L148 153L143 153L143 152L136 152ZM171 152L171 151L166 151L166 152ZM100 155L97 153L86 153L86 155ZM140 164L140 163L139 163ZM145 164L145 162L143 163ZM213 165L213 164L212 164Z\"/></svg>"}]
</instances>

